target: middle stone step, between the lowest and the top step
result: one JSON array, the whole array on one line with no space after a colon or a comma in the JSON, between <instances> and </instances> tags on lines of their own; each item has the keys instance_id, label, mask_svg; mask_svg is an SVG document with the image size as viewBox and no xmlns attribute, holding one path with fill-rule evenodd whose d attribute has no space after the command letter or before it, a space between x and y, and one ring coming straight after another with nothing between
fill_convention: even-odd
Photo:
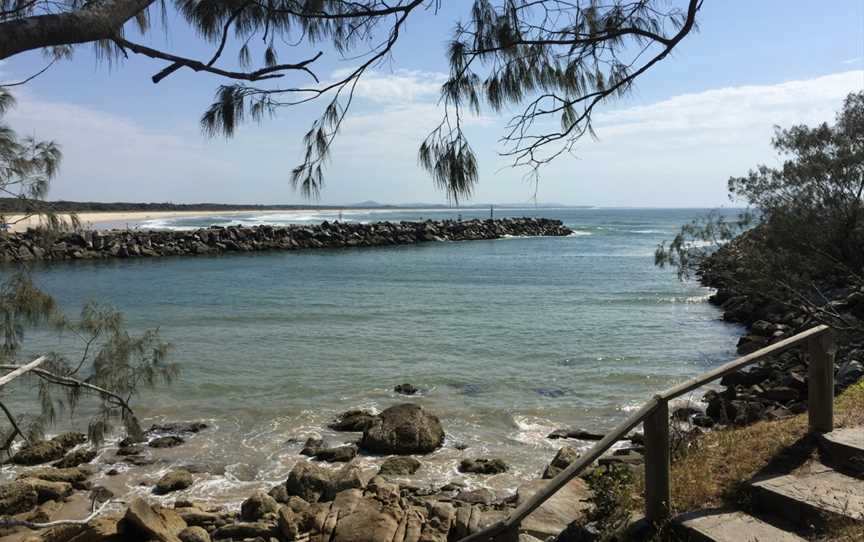
<instances>
[{"instance_id":1,"label":"middle stone step, between the lowest and the top step","mask_svg":"<svg viewBox=\"0 0 864 542\"><path fill-rule=\"evenodd\" d=\"M754 481L750 488L757 509L801 527L838 518L864 521L864 480L821 463Z\"/></svg>"}]
</instances>

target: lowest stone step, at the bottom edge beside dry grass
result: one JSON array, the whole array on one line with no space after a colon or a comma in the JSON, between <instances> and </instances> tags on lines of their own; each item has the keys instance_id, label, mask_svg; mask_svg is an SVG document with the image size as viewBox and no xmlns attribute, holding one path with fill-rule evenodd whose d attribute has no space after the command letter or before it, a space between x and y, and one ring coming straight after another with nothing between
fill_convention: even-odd
<instances>
[{"instance_id":1,"label":"lowest stone step, at the bottom edge beside dry grass","mask_svg":"<svg viewBox=\"0 0 864 542\"><path fill-rule=\"evenodd\" d=\"M686 542L805 542L791 528L737 510L697 510L681 514L674 522Z\"/></svg>"}]
</instances>

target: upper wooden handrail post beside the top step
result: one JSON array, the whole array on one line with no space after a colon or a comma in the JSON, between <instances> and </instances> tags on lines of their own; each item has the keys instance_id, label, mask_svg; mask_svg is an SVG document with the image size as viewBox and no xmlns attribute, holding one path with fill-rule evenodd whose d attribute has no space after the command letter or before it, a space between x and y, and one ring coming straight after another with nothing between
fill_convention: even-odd
<instances>
[{"instance_id":1,"label":"upper wooden handrail post beside the top step","mask_svg":"<svg viewBox=\"0 0 864 542\"><path fill-rule=\"evenodd\" d=\"M810 431L830 433L834 429L834 338L830 332L808 340L807 352Z\"/></svg>"}]
</instances>

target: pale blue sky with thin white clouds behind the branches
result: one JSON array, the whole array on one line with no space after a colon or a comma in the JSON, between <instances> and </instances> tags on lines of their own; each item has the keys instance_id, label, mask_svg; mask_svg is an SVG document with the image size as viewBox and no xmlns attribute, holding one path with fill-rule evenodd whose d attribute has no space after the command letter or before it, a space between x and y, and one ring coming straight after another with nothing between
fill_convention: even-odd
<instances>
[{"instance_id":1,"label":"pale blue sky with thin white clouds behind the branches","mask_svg":"<svg viewBox=\"0 0 864 542\"><path fill-rule=\"evenodd\" d=\"M358 86L318 203L446 203L418 167L417 148L440 120L446 43L470 2L442 6L412 16L392 59ZM846 94L864 90L861 0L705 0L698 24L631 95L595 113L598 139L580 141L574 156L544 168L536 187L498 154L508 117L483 111L469 119L480 171L470 201L529 204L536 189L536 201L566 205L734 205L726 196L730 176L779 164L770 147L774 126L831 121ZM213 45L176 14L168 25L167 36L155 25L147 43L184 56L212 54ZM298 47L280 61L308 52ZM36 52L8 59L0 83L43 65ZM354 65L327 52L317 71L335 77ZM309 202L289 176L322 104L282 110L230 140L210 139L198 120L226 81L180 70L154 85L150 77L164 66L135 55L100 62L79 47L71 61L14 88L18 106L4 120L64 151L50 199Z\"/></svg>"}]
</instances>

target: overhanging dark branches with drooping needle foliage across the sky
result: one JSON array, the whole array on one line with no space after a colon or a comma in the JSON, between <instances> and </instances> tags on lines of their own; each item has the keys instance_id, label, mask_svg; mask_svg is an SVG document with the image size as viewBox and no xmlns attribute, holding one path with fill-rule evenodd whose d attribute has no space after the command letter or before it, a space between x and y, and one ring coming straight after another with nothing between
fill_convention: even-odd
<instances>
[{"instance_id":1,"label":"overhanging dark branches with drooping needle foliage across the sky","mask_svg":"<svg viewBox=\"0 0 864 542\"><path fill-rule=\"evenodd\" d=\"M500 154L512 165L528 168L536 180L544 164L574 152L584 136L596 136L595 108L626 95L643 73L666 58L696 28L702 1L451 2L462 15L442 51L449 63L440 92L442 119L429 127L419 146L420 166L451 201L470 197L480 170L466 121L491 111L510 116ZM0 59L44 47L53 62L85 42L109 62L130 54L164 62L154 83L182 69L216 75L223 82L201 117L209 136L232 137L244 122L323 102L303 138L300 163L290 172L291 184L316 198L358 81L385 69L408 22L422 24L423 17L441 16L442 3L174 0L169 7L155 0L0 0ZM161 11L165 28L167 12L175 11L213 47L212 56L189 58L130 41L125 25L135 24L145 34L155 10ZM50 40L36 30L18 35L17 43L4 40L5 27L20 28L13 23L35 21L42 14L73 15L58 19L58 25L68 27L68 39L55 29ZM87 26L88 17L99 24ZM350 67L329 76L317 73L324 59L333 58Z\"/></svg>"}]
</instances>

